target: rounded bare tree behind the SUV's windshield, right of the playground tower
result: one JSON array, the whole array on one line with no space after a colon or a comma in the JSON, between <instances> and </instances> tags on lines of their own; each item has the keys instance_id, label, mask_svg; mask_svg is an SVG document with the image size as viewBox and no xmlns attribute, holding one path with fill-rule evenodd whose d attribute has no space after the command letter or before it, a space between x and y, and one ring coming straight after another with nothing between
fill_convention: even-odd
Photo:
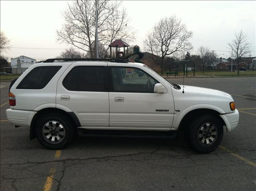
<instances>
[{"instance_id":1,"label":"rounded bare tree behind the SUV's windshield, right of the playground tower","mask_svg":"<svg viewBox=\"0 0 256 191\"><path fill-rule=\"evenodd\" d=\"M144 40L145 50L161 57L161 74L164 73L164 58L182 50L190 50L192 45L188 40L192 31L188 31L181 19L175 15L162 18L155 24Z\"/></svg>"}]
</instances>

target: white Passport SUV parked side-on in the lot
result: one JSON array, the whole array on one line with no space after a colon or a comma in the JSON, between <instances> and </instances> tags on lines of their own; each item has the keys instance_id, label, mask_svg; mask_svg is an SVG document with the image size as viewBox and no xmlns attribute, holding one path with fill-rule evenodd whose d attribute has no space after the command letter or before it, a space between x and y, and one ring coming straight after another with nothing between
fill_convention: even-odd
<instances>
[{"instance_id":1,"label":"white Passport SUV parked side-on in the lot","mask_svg":"<svg viewBox=\"0 0 256 191\"><path fill-rule=\"evenodd\" d=\"M239 119L229 94L170 84L146 65L120 59L33 64L9 97L10 123L30 127L30 139L48 149L66 147L76 133L175 137L182 129L189 146L207 153Z\"/></svg>"}]
</instances>

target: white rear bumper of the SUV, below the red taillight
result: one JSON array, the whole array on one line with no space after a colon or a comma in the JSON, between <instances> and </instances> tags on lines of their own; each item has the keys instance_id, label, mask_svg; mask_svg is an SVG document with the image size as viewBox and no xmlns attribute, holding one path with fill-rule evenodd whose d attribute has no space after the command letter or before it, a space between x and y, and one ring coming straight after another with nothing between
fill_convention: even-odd
<instances>
[{"instance_id":1,"label":"white rear bumper of the SUV, below the red taillight","mask_svg":"<svg viewBox=\"0 0 256 191\"><path fill-rule=\"evenodd\" d=\"M16 109L7 109L7 119L13 125L30 127L31 121L36 114L36 111L23 111Z\"/></svg>"}]
</instances>

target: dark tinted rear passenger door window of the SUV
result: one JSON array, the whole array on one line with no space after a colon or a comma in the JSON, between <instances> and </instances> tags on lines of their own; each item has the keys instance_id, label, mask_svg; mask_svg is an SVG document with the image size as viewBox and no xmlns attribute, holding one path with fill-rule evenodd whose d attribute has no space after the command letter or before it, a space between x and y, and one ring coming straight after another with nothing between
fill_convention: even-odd
<instances>
[{"instance_id":1,"label":"dark tinted rear passenger door window of the SUV","mask_svg":"<svg viewBox=\"0 0 256 191\"><path fill-rule=\"evenodd\" d=\"M70 91L105 92L104 67L75 67L68 73L62 84Z\"/></svg>"}]
</instances>

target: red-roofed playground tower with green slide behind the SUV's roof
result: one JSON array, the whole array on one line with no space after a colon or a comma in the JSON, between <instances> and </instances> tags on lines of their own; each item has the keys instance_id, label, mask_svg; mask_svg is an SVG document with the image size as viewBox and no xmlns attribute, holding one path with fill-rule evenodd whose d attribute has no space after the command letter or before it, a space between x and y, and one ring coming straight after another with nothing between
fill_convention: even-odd
<instances>
[{"instance_id":1,"label":"red-roofed playground tower with green slide behind the SUV's roof","mask_svg":"<svg viewBox=\"0 0 256 191\"><path fill-rule=\"evenodd\" d=\"M133 54L128 54L128 47L130 45L128 45L126 42L124 42L121 39L115 40L108 46L110 47L110 58L120 58L120 59L128 60L128 58L130 58L131 56L138 55L138 57L134 58L134 62L144 64L142 61L140 61L143 58L144 54L140 52L140 47L138 45L134 46ZM125 54L126 47L127 47L127 50L126 50L127 55ZM114 49L115 51L112 51L112 48L115 48ZM121 50L121 48L123 48L123 51Z\"/></svg>"}]
</instances>

